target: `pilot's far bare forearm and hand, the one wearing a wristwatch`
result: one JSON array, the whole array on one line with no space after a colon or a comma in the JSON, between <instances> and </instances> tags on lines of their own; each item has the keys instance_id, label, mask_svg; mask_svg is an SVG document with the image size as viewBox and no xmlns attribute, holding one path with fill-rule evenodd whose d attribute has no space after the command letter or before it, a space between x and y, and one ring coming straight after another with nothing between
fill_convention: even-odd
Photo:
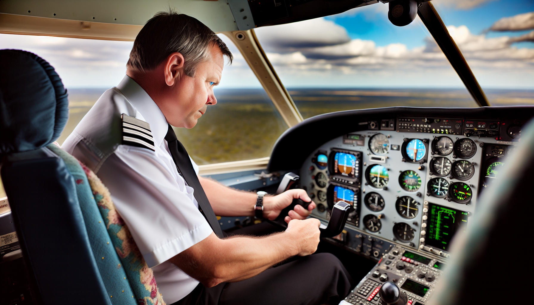
<instances>
[{"instance_id":1,"label":"pilot's far bare forearm and hand, the one wearing a wristwatch","mask_svg":"<svg viewBox=\"0 0 534 305\"><path fill-rule=\"evenodd\" d=\"M214 180L198 177L215 215L254 216L257 194L234 190ZM311 200L306 191L300 189L289 190L276 196L265 196L263 198L263 217L274 220L282 209L291 204L294 198L300 198L305 202ZM314 202L308 206L308 209L297 205L294 210L289 211L285 220L286 222L292 219L303 220L310 215L314 208Z\"/></svg>"}]
</instances>

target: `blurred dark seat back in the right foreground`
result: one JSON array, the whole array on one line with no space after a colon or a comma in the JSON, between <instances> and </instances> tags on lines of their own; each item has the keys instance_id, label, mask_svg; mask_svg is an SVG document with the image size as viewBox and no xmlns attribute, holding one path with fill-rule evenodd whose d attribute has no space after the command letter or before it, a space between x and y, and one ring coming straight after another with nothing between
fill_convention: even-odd
<instances>
[{"instance_id":1,"label":"blurred dark seat back in the right foreground","mask_svg":"<svg viewBox=\"0 0 534 305\"><path fill-rule=\"evenodd\" d=\"M498 181L483 191L476 217L457 234L448 263L428 305L529 304L532 240L534 120L506 160Z\"/></svg>"}]
</instances>

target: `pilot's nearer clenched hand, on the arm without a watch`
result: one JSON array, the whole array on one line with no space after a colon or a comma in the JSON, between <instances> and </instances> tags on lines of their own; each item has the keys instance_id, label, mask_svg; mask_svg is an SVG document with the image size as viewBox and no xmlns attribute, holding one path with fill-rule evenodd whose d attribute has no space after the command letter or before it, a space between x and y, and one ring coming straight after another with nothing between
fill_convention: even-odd
<instances>
[{"instance_id":1,"label":"pilot's nearer clenched hand, on the arm without a watch","mask_svg":"<svg viewBox=\"0 0 534 305\"><path fill-rule=\"evenodd\" d=\"M319 244L319 225L321 222L317 218L308 218L306 220L294 219L287 223L286 233L294 234L295 239L299 240L299 256L313 254L317 251Z\"/></svg>"}]
</instances>

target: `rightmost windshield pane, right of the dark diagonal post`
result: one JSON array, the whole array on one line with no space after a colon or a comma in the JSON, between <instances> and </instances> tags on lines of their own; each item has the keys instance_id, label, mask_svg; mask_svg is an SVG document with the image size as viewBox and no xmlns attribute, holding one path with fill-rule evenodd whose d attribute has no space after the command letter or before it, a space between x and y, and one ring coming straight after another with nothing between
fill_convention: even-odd
<instances>
[{"instance_id":1,"label":"rightmost windshield pane, right of the dark diagonal post","mask_svg":"<svg viewBox=\"0 0 534 305\"><path fill-rule=\"evenodd\" d=\"M433 3L490 104L534 105L534 2Z\"/></svg>"}]
</instances>

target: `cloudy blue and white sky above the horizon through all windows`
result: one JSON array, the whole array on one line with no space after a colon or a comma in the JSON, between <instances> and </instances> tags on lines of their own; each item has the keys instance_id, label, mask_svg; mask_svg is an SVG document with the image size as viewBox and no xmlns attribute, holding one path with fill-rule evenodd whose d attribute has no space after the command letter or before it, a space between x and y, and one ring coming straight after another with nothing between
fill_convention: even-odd
<instances>
[{"instance_id":1,"label":"cloudy blue and white sky above the horizon through all windows","mask_svg":"<svg viewBox=\"0 0 534 305\"><path fill-rule=\"evenodd\" d=\"M433 0L482 88L534 89L534 0ZM462 88L419 17L397 27L377 3L255 29L288 88ZM239 51L219 88L260 88ZM0 48L48 60L67 88L118 84L132 42L0 34Z\"/></svg>"}]
</instances>

